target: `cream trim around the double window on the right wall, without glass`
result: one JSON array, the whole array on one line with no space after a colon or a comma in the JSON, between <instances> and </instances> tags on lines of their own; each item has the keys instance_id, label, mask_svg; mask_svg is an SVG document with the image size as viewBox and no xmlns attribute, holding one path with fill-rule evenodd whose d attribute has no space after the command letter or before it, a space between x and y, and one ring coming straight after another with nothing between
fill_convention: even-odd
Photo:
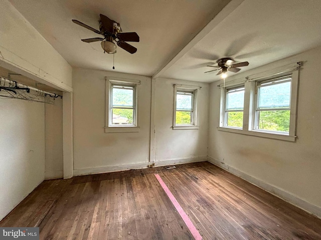
<instances>
[{"instance_id":1,"label":"cream trim around the double window on the right wall, without glass","mask_svg":"<svg viewBox=\"0 0 321 240\"><path fill-rule=\"evenodd\" d=\"M273 71L270 71L270 76L277 77L286 73L292 74L292 83L291 83L291 105L290 105L290 128L289 133L281 133L281 132L273 132L273 131L265 131L265 130L257 130L253 129L254 118L255 118L255 88L256 81L264 80L268 77L264 77L261 75L259 77L247 77L245 81L245 93L244 93L244 108L243 108L243 129L235 128L235 127L226 127L223 126L223 116L224 116L224 94L225 90L222 87L222 84L218 85L221 88L221 105L220 105L220 125L217 127L220 131L227 131L239 134L246 134L258 137L266 137L266 138L274 138L279 140L286 141L295 141L296 139L296 114L297 114L297 91L298 91L298 80L299 80L299 68L301 66L301 62L297 62L296 64L289 64L289 68L283 71L279 71L273 74ZM278 68L280 69L280 68ZM284 68L283 68L284 69ZM257 75L257 74L256 74ZM239 84L242 85L244 80L239 80ZM233 81L233 85L237 85L235 81ZM222 99L223 98L223 99Z\"/></svg>"}]
</instances>

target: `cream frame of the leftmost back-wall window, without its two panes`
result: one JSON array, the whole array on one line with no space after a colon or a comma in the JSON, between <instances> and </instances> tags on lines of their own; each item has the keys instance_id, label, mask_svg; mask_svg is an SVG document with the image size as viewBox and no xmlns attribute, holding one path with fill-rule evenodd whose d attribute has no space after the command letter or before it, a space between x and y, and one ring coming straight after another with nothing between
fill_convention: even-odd
<instances>
[{"instance_id":1,"label":"cream frame of the leftmost back-wall window, without its two panes","mask_svg":"<svg viewBox=\"0 0 321 240\"><path fill-rule=\"evenodd\" d=\"M117 77L105 77L106 80L106 117L105 132L138 132L139 131L139 80L125 79ZM113 107L112 90L113 86L132 86L133 87L133 106L132 107ZM112 109L126 108L133 109L132 124L112 124Z\"/></svg>"}]
</instances>

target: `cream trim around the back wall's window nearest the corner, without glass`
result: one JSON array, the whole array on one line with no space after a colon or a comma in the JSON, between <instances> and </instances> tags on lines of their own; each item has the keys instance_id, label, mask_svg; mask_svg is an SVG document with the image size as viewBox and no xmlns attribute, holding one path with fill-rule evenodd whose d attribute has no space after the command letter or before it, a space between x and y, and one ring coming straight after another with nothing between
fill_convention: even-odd
<instances>
[{"instance_id":1,"label":"cream trim around the back wall's window nearest the corner, without glass","mask_svg":"<svg viewBox=\"0 0 321 240\"><path fill-rule=\"evenodd\" d=\"M182 84L173 84L174 86L174 113L173 113L173 129L199 129L199 126L197 125L198 122L198 90L201 89L201 86L192 86L192 85L182 85ZM188 125L181 125L176 124L176 96L177 91L185 90L185 91L194 91L194 102L193 102L193 121L194 124L188 124Z\"/></svg>"}]
</instances>

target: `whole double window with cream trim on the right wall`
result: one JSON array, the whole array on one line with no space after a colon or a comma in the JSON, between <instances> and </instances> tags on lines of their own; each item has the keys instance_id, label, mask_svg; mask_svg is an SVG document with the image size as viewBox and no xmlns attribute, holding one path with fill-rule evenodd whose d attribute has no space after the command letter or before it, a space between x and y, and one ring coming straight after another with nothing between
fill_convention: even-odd
<instances>
[{"instance_id":1,"label":"whole double window with cream trim on the right wall","mask_svg":"<svg viewBox=\"0 0 321 240\"><path fill-rule=\"evenodd\" d=\"M297 62L283 70L277 68L220 84L218 129L295 141L300 66Z\"/></svg>"}]
</instances>

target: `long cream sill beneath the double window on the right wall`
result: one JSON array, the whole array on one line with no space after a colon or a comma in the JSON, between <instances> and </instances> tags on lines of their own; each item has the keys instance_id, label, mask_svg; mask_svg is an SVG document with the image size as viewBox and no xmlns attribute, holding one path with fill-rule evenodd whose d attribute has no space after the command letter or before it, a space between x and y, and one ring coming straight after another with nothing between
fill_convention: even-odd
<instances>
[{"instance_id":1,"label":"long cream sill beneath the double window on the right wall","mask_svg":"<svg viewBox=\"0 0 321 240\"><path fill-rule=\"evenodd\" d=\"M277 133L263 132L263 131L256 131L256 130L249 131L249 130L242 130L242 129L236 129L236 128L222 127L222 126L217 127L217 129L220 131L227 131L227 132L266 137L266 138L274 138L274 139L279 139L284 141L295 141L296 139L296 136L289 136L285 134L277 134Z\"/></svg>"}]
</instances>

